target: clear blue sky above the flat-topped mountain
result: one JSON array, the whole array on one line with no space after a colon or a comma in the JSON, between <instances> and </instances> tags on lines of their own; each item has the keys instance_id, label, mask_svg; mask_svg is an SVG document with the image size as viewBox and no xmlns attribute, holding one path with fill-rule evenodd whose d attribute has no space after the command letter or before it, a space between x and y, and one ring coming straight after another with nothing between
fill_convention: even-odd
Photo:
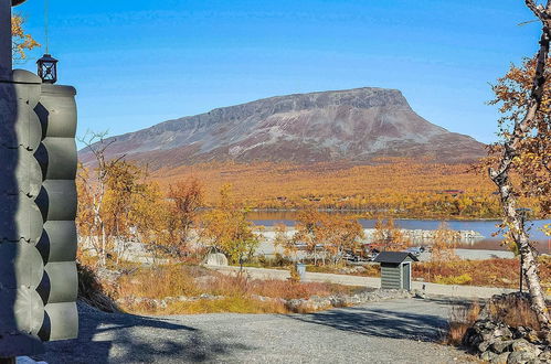
<instances>
[{"instance_id":1,"label":"clear blue sky above the flat-topped mountain","mask_svg":"<svg viewBox=\"0 0 551 364\"><path fill-rule=\"evenodd\" d=\"M44 0L15 10L44 42ZM80 135L373 86L489 142L489 83L537 51L538 23L518 25L531 19L521 0L50 0L50 51L78 90Z\"/></svg>"}]
</instances>

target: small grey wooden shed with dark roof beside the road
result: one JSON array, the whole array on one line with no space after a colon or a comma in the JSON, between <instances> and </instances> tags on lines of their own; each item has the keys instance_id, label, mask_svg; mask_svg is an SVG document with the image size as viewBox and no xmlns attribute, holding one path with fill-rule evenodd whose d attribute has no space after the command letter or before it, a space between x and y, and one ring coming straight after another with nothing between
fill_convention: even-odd
<instances>
[{"instance_id":1,"label":"small grey wooden shed with dark roof beside the road","mask_svg":"<svg viewBox=\"0 0 551 364\"><path fill-rule=\"evenodd\" d=\"M418 259L406 251L381 251L373 261L381 264L382 289L412 289L412 263Z\"/></svg>"}]
</instances>

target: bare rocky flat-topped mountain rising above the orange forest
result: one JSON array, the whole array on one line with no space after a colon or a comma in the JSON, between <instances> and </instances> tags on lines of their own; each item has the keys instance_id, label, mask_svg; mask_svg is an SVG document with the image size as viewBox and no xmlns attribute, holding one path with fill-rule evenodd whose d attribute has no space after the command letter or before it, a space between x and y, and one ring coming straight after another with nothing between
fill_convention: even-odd
<instances>
[{"instance_id":1,"label":"bare rocky flat-topped mountain rising above the orange forest","mask_svg":"<svg viewBox=\"0 0 551 364\"><path fill-rule=\"evenodd\" d=\"M484 144L415 114L400 90L357 88L265 98L110 138L110 156L153 169L234 160L312 163L374 157L471 161ZM81 159L92 158L86 150Z\"/></svg>"}]
</instances>

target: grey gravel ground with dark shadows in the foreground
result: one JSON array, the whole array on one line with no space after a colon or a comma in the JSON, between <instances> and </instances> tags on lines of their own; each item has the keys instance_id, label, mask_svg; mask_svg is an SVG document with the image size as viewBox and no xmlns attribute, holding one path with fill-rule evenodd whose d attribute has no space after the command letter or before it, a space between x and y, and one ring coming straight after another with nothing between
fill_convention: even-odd
<instances>
[{"instance_id":1,"label":"grey gravel ground with dark shadows in the foreground","mask_svg":"<svg viewBox=\"0 0 551 364\"><path fill-rule=\"evenodd\" d=\"M451 303L394 300L314 314L106 314L81 307L81 339L49 363L464 363L435 344Z\"/></svg>"}]
</instances>

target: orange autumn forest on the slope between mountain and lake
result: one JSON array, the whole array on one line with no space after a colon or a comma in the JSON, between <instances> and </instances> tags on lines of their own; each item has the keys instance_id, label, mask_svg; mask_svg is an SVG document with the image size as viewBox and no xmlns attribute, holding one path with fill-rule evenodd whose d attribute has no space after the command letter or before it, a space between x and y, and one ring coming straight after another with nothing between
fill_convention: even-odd
<instances>
[{"instance_id":1,"label":"orange autumn forest on the slope between mountain and lake","mask_svg":"<svg viewBox=\"0 0 551 364\"><path fill-rule=\"evenodd\" d=\"M496 218L500 215L494 185L469 164L423 160L378 159L370 165L345 162L203 163L165 169L152 178L168 190L191 175L205 184L205 204L218 204L218 192L232 184L235 199L261 210L352 210L364 217ZM526 204L538 215L534 199Z\"/></svg>"}]
</instances>

